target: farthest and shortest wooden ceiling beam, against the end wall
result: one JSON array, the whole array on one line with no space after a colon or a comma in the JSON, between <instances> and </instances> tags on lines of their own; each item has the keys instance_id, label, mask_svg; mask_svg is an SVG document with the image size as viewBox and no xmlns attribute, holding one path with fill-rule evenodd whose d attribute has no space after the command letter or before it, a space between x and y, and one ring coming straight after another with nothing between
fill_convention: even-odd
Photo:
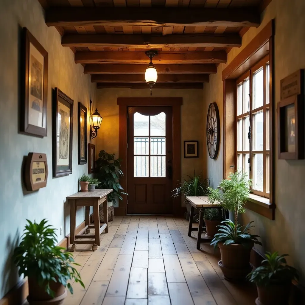
<instances>
[{"instance_id":1,"label":"farthest and shortest wooden ceiling beam, against the end wall","mask_svg":"<svg viewBox=\"0 0 305 305\"><path fill-rule=\"evenodd\" d=\"M149 85L146 83L97 83L96 88L131 88L131 89L147 89ZM203 83L156 83L153 89L203 89Z\"/></svg>"}]
</instances>

